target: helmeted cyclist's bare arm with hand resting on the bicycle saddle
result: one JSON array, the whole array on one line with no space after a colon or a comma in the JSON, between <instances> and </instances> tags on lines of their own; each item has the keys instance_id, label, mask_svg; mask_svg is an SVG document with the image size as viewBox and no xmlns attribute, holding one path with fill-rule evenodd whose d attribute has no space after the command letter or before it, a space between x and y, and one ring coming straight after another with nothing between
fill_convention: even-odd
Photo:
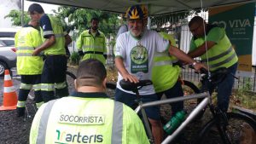
<instances>
[{"instance_id":1,"label":"helmeted cyclist's bare arm with hand resting on the bicycle saddle","mask_svg":"<svg viewBox=\"0 0 256 144\"><path fill-rule=\"evenodd\" d=\"M115 66L117 67L119 73L125 79L125 81L129 80L131 83L138 83L138 79L136 76L131 75L126 69L123 62L123 59L119 56L114 59Z\"/></svg>"}]
</instances>

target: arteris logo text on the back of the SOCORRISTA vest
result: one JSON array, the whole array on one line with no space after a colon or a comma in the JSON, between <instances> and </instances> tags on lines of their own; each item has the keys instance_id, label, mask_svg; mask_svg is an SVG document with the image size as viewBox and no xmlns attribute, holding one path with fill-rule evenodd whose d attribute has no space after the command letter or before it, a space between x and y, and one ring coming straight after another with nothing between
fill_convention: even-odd
<instances>
[{"instance_id":1,"label":"arteris logo text on the back of the SOCORRISTA vest","mask_svg":"<svg viewBox=\"0 0 256 144\"><path fill-rule=\"evenodd\" d=\"M103 135L81 135L80 132L78 134L70 134L61 130L56 130L56 133L57 141L55 141L55 143L96 143L103 141Z\"/></svg>"}]
</instances>

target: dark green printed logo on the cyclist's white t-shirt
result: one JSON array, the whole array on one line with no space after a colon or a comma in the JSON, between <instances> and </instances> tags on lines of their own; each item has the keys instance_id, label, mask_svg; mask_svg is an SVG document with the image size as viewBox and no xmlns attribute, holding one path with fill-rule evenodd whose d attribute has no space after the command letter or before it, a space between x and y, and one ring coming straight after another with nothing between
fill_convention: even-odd
<instances>
[{"instance_id":1,"label":"dark green printed logo on the cyclist's white t-shirt","mask_svg":"<svg viewBox=\"0 0 256 144\"><path fill-rule=\"evenodd\" d=\"M148 72L148 50L143 45L131 49L131 73Z\"/></svg>"}]
</instances>

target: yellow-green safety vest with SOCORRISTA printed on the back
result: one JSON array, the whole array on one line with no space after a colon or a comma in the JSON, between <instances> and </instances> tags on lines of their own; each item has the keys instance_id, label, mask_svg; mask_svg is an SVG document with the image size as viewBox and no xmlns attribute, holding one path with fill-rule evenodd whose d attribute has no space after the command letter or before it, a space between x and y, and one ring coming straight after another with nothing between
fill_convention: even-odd
<instances>
[{"instance_id":1,"label":"yellow-green safety vest with SOCORRISTA printed on the back","mask_svg":"<svg viewBox=\"0 0 256 144\"><path fill-rule=\"evenodd\" d=\"M30 144L48 143L149 144L149 141L142 122L130 107L108 98L68 96L42 105L33 119Z\"/></svg>"}]
</instances>

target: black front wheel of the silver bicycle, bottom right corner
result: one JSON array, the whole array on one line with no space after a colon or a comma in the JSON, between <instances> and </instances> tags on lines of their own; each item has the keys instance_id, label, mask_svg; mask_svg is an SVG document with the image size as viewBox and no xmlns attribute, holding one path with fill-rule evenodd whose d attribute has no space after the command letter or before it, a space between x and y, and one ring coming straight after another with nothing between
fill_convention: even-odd
<instances>
[{"instance_id":1,"label":"black front wheel of the silver bicycle, bottom right corner","mask_svg":"<svg viewBox=\"0 0 256 144\"><path fill-rule=\"evenodd\" d=\"M240 112L227 113L228 124L218 124L213 119L206 124L195 141L196 144L240 144L253 143L256 135L256 122ZM219 128L217 128L219 125ZM254 141L255 142L255 141Z\"/></svg>"}]
</instances>

